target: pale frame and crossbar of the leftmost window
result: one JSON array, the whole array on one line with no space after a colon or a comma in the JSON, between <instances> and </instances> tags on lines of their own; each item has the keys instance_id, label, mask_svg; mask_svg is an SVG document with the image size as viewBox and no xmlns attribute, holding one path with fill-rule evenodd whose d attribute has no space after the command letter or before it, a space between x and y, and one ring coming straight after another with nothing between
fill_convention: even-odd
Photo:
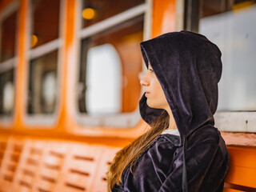
<instances>
[{"instance_id":1,"label":"pale frame and crossbar of the leftmost window","mask_svg":"<svg viewBox=\"0 0 256 192\"><path fill-rule=\"evenodd\" d=\"M16 31L15 31L15 47L14 47L14 57L13 58L9 58L4 62L0 62L0 74L5 73L8 70L14 70L14 110L12 115L0 115L0 120L1 120L1 124L6 124L6 125L10 125L10 123L13 121L14 118L14 113L15 111L15 91L16 91L16 74L17 74L17 61L18 61L18 26L19 26L19 8L20 8L20 3L18 2L18 0L14 0L13 2L10 2L10 4L8 6L6 6L3 10L2 13L0 14L0 25L2 25L2 21L7 18L8 16L10 16L10 14L13 14L15 11L17 11L17 15L16 15ZM2 28L0 28L0 34L2 34ZM2 35L0 35L0 42ZM0 48L1 49L1 48Z\"/></svg>"}]
</instances>

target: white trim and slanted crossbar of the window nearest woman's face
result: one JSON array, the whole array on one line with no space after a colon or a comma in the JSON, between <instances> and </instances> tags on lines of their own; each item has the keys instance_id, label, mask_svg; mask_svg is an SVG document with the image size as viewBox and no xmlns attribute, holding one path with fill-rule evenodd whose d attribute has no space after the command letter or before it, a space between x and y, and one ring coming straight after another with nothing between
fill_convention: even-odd
<instances>
[{"instance_id":1,"label":"white trim and slanted crossbar of the window nearest woman's face","mask_svg":"<svg viewBox=\"0 0 256 192\"><path fill-rule=\"evenodd\" d=\"M82 7L82 0L78 1L78 7ZM79 9L78 9L79 10ZM105 20L98 22L94 24L93 26L88 26L85 29L82 29L82 21L79 15L81 14L81 11L78 11L78 23L77 23L77 29L79 31L78 33L78 43L77 43L77 52L80 53L80 46L83 38L88 38L93 34L98 34L99 32L103 30L107 30L110 27L116 26L122 22L126 22L130 20L131 18L135 18L138 15L144 14L144 28L143 28L143 40L147 40L150 38L151 35L151 19L152 19L152 0L146 0L146 2L142 5L135 6L129 10L123 11L120 14L116 14L113 17L106 18ZM82 29L82 30L81 30ZM78 54L77 57L79 57L80 54ZM77 63L77 69L76 69L76 87L78 87L78 77L79 77L79 67L80 67L80 59L78 59ZM142 71L145 71L145 64L142 62ZM78 90L78 89L77 89ZM77 92L77 90L74 91L74 94ZM141 90L140 96L143 94L143 89ZM102 116L90 116L88 114L83 114L79 112L78 110L78 98L73 96L71 98L75 98L72 103L74 103L74 118L76 121L81 124L82 126L102 126L102 127L117 127L117 128L128 128L133 127L138 124L138 122L141 119L141 116L139 114L139 109L137 107L136 110L130 112L130 113L121 113L121 114L114 114L114 115L102 115Z\"/></svg>"}]
</instances>

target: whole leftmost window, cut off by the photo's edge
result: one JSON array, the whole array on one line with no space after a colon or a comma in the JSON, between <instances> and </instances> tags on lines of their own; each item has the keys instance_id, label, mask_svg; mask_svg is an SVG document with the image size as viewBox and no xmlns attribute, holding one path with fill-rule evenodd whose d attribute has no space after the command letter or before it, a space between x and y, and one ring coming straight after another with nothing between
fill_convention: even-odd
<instances>
[{"instance_id":1,"label":"whole leftmost window, cut off by the photo's edge","mask_svg":"<svg viewBox=\"0 0 256 192\"><path fill-rule=\"evenodd\" d=\"M18 3L11 3L0 18L0 118L10 121L14 114L14 72Z\"/></svg>"}]
</instances>

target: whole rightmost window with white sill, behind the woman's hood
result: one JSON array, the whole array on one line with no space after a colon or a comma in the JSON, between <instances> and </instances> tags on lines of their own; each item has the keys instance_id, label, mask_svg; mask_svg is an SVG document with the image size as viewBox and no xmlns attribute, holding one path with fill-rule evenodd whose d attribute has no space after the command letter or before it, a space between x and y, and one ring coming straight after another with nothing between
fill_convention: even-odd
<instances>
[{"instance_id":1,"label":"whole rightmost window with white sill, behind the woman's hood","mask_svg":"<svg viewBox=\"0 0 256 192\"><path fill-rule=\"evenodd\" d=\"M202 1L199 33L222 51L217 117L223 130L256 131L256 114L249 113L256 111L254 18L255 1Z\"/></svg>"}]
</instances>

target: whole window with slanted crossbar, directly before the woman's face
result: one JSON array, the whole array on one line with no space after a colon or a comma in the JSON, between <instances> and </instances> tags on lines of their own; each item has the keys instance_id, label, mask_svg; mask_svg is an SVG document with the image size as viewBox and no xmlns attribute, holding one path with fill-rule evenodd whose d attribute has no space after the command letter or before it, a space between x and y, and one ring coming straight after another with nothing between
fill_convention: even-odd
<instances>
[{"instance_id":1,"label":"whole window with slanted crossbar, directly before the woman's face","mask_svg":"<svg viewBox=\"0 0 256 192\"><path fill-rule=\"evenodd\" d=\"M141 97L144 1L82 1L78 122L134 126ZM111 9L108 9L111 7ZM89 10L95 12L91 18Z\"/></svg>"}]
</instances>

